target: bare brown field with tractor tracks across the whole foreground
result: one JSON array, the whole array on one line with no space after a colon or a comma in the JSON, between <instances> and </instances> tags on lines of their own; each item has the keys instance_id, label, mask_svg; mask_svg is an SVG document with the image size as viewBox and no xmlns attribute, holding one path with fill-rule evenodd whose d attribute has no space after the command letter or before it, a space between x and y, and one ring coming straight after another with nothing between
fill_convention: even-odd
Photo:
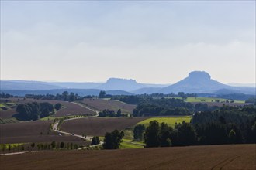
<instances>
[{"instance_id":1,"label":"bare brown field with tractor tracks across the whole foreground","mask_svg":"<svg viewBox=\"0 0 256 170\"><path fill-rule=\"evenodd\" d=\"M0 157L1 169L254 170L256 145L211 145L109 151L43 151Z\"/></svg>"}]
</instances>

